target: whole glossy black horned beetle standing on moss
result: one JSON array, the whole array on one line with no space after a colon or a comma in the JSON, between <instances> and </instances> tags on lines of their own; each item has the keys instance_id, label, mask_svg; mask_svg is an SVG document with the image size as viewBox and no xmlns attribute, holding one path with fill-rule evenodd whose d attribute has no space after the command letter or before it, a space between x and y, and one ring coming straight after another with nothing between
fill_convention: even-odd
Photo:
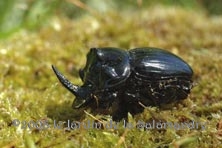
<instances>
[{"instance_id":1,"label":"whole glossy black horned beetle standing on moss","mask_svg":"<svg viewBox=\"0 0 222 148\"><path fill-rule=\"evenodd\" d=\"M158 48L129 51L91 48L86 66L79 70L83 81L76 86L52 66L59 81L75 96L73 108L91 106L109 110L113 120L185 99L193 87L191 67L178 56Z\"/></svg>"}]
</instances>

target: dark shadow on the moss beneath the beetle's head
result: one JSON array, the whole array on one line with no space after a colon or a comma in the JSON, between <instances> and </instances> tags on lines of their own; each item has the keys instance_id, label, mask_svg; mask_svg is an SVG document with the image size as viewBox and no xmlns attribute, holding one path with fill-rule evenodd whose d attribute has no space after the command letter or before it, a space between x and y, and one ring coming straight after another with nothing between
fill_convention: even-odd
<instances>
[{"instance_id":1,"label":"dark shadow on the moss beneath the beetle's head","mask_svg":"<svg viewBox=\"0 0 222 148\"><path fill-rule=\"evenodd\" d=\"M71 102L50 103L46 106L47 116L56 121L81 121L85 117L83 109L73 109Z\"/></svg>"}]
</instances>

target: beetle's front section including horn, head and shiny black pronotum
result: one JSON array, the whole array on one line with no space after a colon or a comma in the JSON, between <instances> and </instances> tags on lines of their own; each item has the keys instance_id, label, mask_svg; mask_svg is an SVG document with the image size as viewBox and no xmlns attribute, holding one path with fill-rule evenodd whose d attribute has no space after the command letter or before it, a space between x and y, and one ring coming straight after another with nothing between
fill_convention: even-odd
<instances>
[{"instance_id":1,"label":"beetle's front section including horn, head and shiny black pronotum","mask_svg":"<svg viewBox=\"0 0 222 148\"><path fill-rule=\"evenodd\" d=\"M130 62L128 52L124 50L91 48L87 54L86 66L79 71L83 81L81 87L72 84L54 66L52 69L63 86L76 96L73 108L80 108L93 99L101 105L113 100L110 99L116 95L113 88L120 86L130 75Z\"/></svg>"}]
</instances>

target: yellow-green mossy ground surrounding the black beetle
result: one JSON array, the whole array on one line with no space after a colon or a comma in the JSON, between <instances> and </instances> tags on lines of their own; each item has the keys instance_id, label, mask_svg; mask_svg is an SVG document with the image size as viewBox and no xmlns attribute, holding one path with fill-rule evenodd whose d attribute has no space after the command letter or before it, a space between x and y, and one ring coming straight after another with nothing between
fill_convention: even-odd
<instances>
[{"instance_id":1,"label":"yellow-green mossy ground surrounding the black beetle","mask_svg":"<svg viewBox=\"0 0 222 148\"><path fill-rule=\"evenodd\" d=\"M55 17L36 32L22 30L0 42L0 147L221 147L222 17L176 7L106 12L69 20ZM22 129L12 121L94 120L71 108L73 95L54 75L56 65L81 85L78 69L91 47L153 46L187 61L196 86L179 104L148 107L129 121L206 123L206 129ZM88 111L91 113L90 111ZM94 115L104 118L103 115ZM110 119L110 117L106 117ZM103 121L106 122L106 121ZM123 125L123 122L120 123Z\"/></svg>"}]
</instances>

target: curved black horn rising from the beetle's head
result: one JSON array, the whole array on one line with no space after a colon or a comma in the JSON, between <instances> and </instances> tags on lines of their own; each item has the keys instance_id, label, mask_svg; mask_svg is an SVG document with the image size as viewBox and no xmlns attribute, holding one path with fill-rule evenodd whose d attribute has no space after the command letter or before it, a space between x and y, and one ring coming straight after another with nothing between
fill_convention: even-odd
<instances>
[{"instance_id":1,"label":"curved black horn rising from the beetle's head","mask_svg":"<svg viewBox=\"0 0 222 148\"><path fill-rule=\"evenodd\" d=\"M65 88L72 92L75 96L78 96L79 86L72 84L64 75L62 75L53 65L52 69L55 72L57 78Z\"/></svg>"}]
</instances>

